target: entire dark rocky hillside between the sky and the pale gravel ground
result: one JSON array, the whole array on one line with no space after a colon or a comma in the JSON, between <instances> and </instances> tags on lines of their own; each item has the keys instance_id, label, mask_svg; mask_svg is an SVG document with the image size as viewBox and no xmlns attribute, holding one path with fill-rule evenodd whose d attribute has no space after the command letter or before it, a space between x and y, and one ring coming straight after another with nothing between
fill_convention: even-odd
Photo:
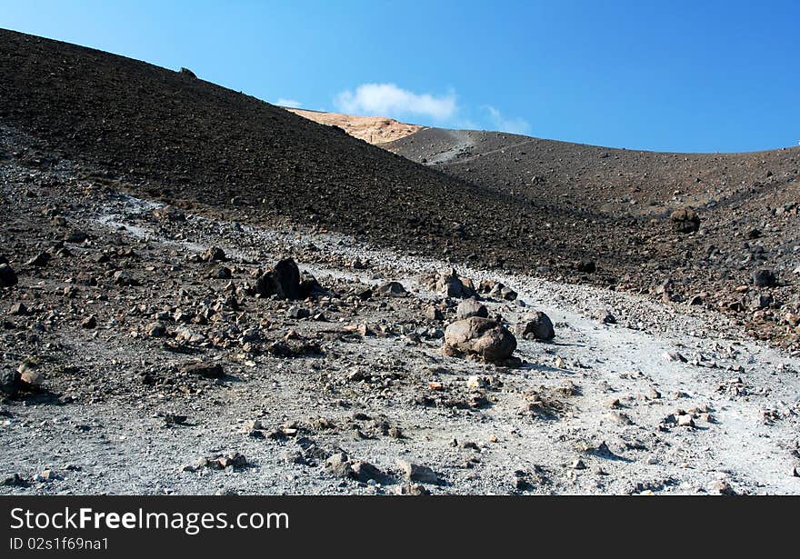
<instances>
[{"instance_id":1,"label":"entire dark rocky hillside between the sky and the pale gravel ground","mask_svg":"<svg viewBox=\"0 0 800 559\"><path fill-rule=\"evenodd\" d=\"M5 30L0 98L0 123L48 161L140 198L701 306L800 347L800 148L656 154L423 129L393 154L191 71Z\"/></svg>"}]
</instances>

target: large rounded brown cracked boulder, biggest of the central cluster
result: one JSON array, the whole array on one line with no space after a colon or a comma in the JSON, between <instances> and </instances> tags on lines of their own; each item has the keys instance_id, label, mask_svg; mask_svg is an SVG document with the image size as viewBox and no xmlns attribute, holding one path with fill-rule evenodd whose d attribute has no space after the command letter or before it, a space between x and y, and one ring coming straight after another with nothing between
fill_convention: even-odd
<instances>
[{"instance_id":1,"label":"large rounded brown cracked boulder, biggest of the central cluster","mask_svg":"<svg viewBox=\"0 0 800 559\"><path fill-rule=\"evenodd\" d=\"M516 338L503 324L479 316L458 320L445 330L445 354L475 354L485 361L504 361L516 349Z\"/></svg>"}]
</instances>

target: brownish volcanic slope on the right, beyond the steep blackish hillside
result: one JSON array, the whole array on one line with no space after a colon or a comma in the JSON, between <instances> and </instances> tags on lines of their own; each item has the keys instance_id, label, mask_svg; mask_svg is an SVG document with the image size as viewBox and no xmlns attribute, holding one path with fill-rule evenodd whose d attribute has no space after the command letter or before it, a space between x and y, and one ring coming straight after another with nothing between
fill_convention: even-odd
<instances>
[{"instance_id":1,"label":"brownish volcanic slope on the right, beyond the steep blackish hillside","mask_svg":"<svg viewBox=\"0 0 800 559\"><path fill-rule=\"evenodd\" d=\"M765 328L769 336L782 335L795 322L800 148L655 153L437 128L385 147L514 196L520 207L546 207L535 230L555 255L538 263L531 256L543 275L560 272L553 264L561 248L579 246L571 252L596 260L598 272L610 267L618 273L616 288L720 308L755 330L775 326ZM669 216L687 206L701 220L699 231L675 232ZM555 212L578 218L558 224L551 217ZM582 274L591 268L576 266L573 277L601 284L608 279ZM761 269L776 276L777 293L745 287Z\"/></svg>"}]
</instances>

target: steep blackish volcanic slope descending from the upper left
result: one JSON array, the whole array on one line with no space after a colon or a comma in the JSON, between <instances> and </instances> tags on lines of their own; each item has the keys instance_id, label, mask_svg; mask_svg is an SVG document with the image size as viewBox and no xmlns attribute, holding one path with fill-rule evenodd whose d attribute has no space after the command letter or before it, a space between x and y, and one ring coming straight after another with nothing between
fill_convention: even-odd
<instances>
[{"instance_id":1,"label":"steep blackish volcanic slope descending from the upper left","mask_svg":"<svg viewBox=\"0 0 800 559\"><path fill-rule=\"evenodd\" d=\"M0 123L136 195L526 261L532 214L510 197L189 73L0 31L0 98Z\"/></svg>"}]
</instances>

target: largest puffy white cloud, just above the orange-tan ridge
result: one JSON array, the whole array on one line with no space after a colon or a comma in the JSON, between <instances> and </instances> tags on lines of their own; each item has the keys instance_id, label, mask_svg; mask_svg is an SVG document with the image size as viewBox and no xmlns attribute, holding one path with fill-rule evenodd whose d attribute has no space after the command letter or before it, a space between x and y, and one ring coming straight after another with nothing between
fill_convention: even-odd
<instances>
[{"instance_id":1,"label":"largest puffy white cloud, just above the orange-tan ridge","mask_svg":"<svg viewBox=\"0 0 800 559\"><path fill-rule=\"evenodd\" d=\"M415 94L395 84L362 84L336 95L334 104L343 112L369 116L429 116L445 121L455 115L455 93L447 95Z\"/></svg>"}]
</instances>

